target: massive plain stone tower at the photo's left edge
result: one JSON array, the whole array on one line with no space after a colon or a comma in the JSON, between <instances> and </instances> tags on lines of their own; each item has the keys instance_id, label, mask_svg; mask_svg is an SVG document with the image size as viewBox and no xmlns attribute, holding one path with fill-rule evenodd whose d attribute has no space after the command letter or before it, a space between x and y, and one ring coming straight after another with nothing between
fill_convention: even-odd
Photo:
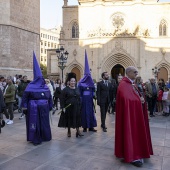
<instances>
[{"instance_id":1,"label":"massive plain stone tower at the photo's left edge","mask_svg":"<svg viewBox=\"0 0 170 170\"><path fill-rule=\"evenodd\" d=\"M40 0L0 1L0 75L32 78L40 54Z\"/></svg>"}]
</instances>

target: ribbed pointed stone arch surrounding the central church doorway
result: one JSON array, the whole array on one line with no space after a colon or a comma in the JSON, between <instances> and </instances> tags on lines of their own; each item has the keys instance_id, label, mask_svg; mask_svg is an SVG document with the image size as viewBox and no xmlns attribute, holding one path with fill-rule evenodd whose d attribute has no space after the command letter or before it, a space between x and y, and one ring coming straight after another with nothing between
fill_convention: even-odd
<instances>
[{"instance_id":1,"label":"ribbed pointed stone arch surrounding the central church doorway","mask_svg":"<svg viewBox=\"0 0 170 170\"><path fill-rule=\"evenodd\" d=\"M136 67L136 63L131 57L125 54L117 53L105 59L103 62L102 71L111 73L112 68L118 64L123 68L127 68L129 66Z\"/></svg>"}]
</instances>

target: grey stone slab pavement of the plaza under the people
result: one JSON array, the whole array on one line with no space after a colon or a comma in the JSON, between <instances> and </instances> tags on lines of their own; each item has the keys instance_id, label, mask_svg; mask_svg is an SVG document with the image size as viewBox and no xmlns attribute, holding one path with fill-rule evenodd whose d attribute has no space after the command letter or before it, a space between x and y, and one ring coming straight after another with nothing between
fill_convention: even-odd
<instances>
[{"instance_id":1,"label":"grey stone slab pavement of the plaza under the people","mask_svg":"<svg viewBox=\"0 0 170 170\"><path fill-rule=\"evenodd\" d=\"M97 112L97 133L87 132L81 138L76 138L75 130L68 138L67 130L57 127L55 114L53 139L39 146L26 141L25 120L15 113L14 124L6 125L0 134L0 170L170 170L170 117L157 115L150 120L154 156L136 168L114 156L115 116L107 114L105 133L100 128L99 108Z\"/></svg>"}]
</instances>

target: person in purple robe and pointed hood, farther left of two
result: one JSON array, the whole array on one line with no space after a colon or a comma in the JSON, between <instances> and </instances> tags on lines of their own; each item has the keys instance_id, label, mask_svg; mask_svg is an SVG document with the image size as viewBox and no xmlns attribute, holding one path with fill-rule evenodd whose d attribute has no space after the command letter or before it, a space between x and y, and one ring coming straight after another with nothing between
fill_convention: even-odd
<instances>
[{"instance_id":1,"label":"person in purple robe and pointed hood, farther left of two","mask_svg":"<svg viewBox=\"0 0 170 170\"><path fill-rule=\"evenodd\" d=\"M22 107L26 110L27 141L38 145L52 138L49 111L52 109L53 102L34 53L33 73L34 80L24 91Z\"/></svg>"}]
</instances>

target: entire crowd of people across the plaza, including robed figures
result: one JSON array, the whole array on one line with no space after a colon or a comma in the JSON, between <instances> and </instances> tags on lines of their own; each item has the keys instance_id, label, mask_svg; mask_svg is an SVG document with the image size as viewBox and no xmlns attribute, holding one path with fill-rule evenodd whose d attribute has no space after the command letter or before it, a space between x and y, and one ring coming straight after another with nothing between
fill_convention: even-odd
<instances>
[{"instance_id":1,"label":"entire crowd of people across the plaza, including robed figures","mask_svg":"<svg viewBox=\"0 0 170 170\"><path fill-rule=\"evenodd\" d=\"M34 73L33 81L22 75L1 76L0 112L7 125L13 124L17 101L19 119L26 116L27 140L37 145L52 138L49 111L55 114L61 109L58 127L67 128L68 137L72 136L71 129L76 129L76 137L83 137L81 127L84 133L97 132L97 101L103 132L107 132L107 113L116 115L115 155L140 167L143 158L153 154L149 118L170 114L170 80L165 84L163 79L156 82L150 78L143 83L135 67L128 67L125 72L125 77L119 74L116 80L110 80L109 74L103 72L101 81L95 83L85 55L84 76L78 82L74 73L68 73L65 83L44 79L40 71Z\"/></svg>"}]
</instances>

